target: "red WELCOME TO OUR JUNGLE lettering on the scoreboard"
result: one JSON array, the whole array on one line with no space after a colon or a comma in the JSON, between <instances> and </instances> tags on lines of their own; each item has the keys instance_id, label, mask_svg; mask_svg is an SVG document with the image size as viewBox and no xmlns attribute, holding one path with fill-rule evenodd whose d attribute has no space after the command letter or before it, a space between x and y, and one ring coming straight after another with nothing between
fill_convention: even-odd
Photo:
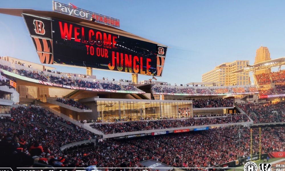
<instances>
[{"instance_id":1,"label":"red WELCOME TO OUR JUNGLE lettering on the scoreboard","mask_svg":"<svg viewBox=\"0 0 285 171\"><path fill-rule=\"evenodd\" d=\"M61 38L86 44L87 55L96 55L101 58L111 57L111 62L108 64L109 70L114 70L116 68L117 71L123 71L123 68L125 68L124 72L151 75L149 69L152 60L150 58L143 58L135 55L132 56L131 54L115 51L112 51L112 54L108 54L108 49L116 50L118 48L116 40L119 36L101 31L94 31L91 28L89 30L84 30L84 27L74 27L70 23L63 23L61 21L59 21L58 24ZM145 69L144 66L146 66Z\"/></svg>"}]
</instances>

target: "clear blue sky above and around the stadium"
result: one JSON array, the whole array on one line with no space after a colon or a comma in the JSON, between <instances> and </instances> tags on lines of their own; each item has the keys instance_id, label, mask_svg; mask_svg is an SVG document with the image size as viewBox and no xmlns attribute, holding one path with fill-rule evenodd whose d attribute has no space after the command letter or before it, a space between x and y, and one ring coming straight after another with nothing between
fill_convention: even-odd
<instances>
[{"instance_id":1,"label":"clear blue sky above and around the stadium","mask_svg":"<svg viewBox=\"0 0 285 171\"><path fill-rule=\"evenodd\" d=\"M77 7L120 19L120 28L169 46L163 76L172 85L200 82L215 65L250 60L269 48L285 56L285 1L75 1ZM0 8L52 10L52 1L1 1ZM39 63L23 18L0 14L0 55ZM85 74L84 69L58 67ZM93 70L101 79L130 79L131 74ZM139 75L139 80L148 79Z\"/></svg>"}]
</instances>

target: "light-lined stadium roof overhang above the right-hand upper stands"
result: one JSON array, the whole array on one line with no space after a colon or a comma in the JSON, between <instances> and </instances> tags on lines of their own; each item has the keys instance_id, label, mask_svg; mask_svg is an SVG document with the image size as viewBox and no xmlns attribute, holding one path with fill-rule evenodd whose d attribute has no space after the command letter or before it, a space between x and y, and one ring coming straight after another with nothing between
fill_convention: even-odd
<instances>
[{"instance_id":1,"label":"light-lined stadium roof overhang above the right-hand upper stands","mask_svg":"<svg viewBox=\"0 0 285 171\"><path fill-rule=\"evenodd\" d=\"M278 67L282 65L285 65L285 57L272 59L272 60L268 60L264 62L259 62L254 65L248 65L245 68L242 68L242 69L239 69L233 72L229 72L227 74L224 74L223 76L232 75L232 74L241 74L241 73L251 72L251 71L256 71L256 70L264 70L264 69Z\"/></svg>"}]
</instances>

